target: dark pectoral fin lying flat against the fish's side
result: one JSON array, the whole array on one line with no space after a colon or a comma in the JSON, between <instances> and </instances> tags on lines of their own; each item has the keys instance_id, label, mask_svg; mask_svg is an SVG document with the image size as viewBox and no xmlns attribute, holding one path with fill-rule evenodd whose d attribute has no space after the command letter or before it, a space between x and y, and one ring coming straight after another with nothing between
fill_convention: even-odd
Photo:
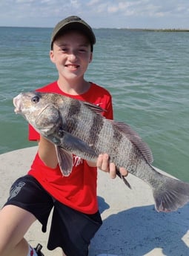
<instances>
[{"instance_id":1,"label":"dark pectoral fin lying flat against the fish's side","mask_svg":"<svg viewBox=\"0 0 189 256\"><path fill-rule=\"evenodd\" d=\"M85 152L87 155L90 155L92 157L98 157L95 150L90 147L90 145L87 145L86 142L83 140L80 140L78 137L68 133L67 131L63 131L64 135L60 139L61 144L63 145L63 148L66 151L82 151Z\"/></svg>"}]
</instances>

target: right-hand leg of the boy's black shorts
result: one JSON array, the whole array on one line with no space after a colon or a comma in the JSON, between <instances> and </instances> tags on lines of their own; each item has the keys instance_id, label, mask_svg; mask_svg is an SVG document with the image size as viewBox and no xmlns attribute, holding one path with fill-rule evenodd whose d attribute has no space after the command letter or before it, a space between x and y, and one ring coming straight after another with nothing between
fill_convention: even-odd
<instances>
[{"instance_id":1,"label":"right-hand leg of the boy's black shorts","mask_svg":"<svg viewBox=\"0 0 189 256\"><path fill-rule=\"evenodd\" d=\"M101 225L99 212L83 214L55 201L47 248L61 247L63 256L87 256L90 240Z\"/></svg>"}]
</instances>

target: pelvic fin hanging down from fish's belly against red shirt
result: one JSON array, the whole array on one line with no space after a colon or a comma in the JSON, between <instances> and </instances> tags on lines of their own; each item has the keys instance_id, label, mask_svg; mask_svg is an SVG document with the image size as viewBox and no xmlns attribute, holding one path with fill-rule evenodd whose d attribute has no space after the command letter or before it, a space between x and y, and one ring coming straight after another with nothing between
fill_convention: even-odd
<instances>
[{"instance_id":1,"label":"pelvic fin hanging down from fish's belly against red shirt","mask_svg":"<svg viewBox=\"0 0 189 256\"><path fill-rule=\"evenodd\" d=\"M56 146L56 155L63 176L69 176L73 168L73 155L58 146Z\"/></svg>"}]
</instances>

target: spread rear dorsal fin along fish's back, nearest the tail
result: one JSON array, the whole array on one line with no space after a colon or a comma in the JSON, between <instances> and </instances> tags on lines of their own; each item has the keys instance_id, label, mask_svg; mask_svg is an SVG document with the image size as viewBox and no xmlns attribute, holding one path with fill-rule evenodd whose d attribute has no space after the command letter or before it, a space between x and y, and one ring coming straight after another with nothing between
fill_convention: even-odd
<instances>
[{"instance_id":1,"label":"spread rear dorsal fin along fish's back, nearest the tail","mask_svg":"<svg viewBox=\"0 0 189 256\"><path fill-rule=\"evenodd\" d=\"M125 122L113 122L113 125L116 125L116 128L119 129L126 137L136 145L137 148L141 151L147 163L153 163L153 154L149 146L139 137L139 134L130 127L130 125L125 124Z\"/></svg>"}]
</instances>

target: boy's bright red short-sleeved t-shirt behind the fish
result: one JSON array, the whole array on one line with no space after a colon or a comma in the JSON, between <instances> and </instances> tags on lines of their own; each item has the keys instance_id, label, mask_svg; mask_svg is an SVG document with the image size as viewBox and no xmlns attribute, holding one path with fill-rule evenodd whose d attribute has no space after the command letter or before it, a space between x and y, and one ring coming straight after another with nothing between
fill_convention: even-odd
<instances>
[{"instance_id":1,"label":"boy's bright red short-sleeved t-shirt behind the fish","mask_svg":"<svg viewBox=\"0 0 189 256\"><path fill-rule=\"evenodd\" d=\"M61 91L57 82L53 82L36 91L60 93L74 99L99 105L106 110L103 112L103 115L107 119L113 119L110 93L105 90L105 88L94 83L90 83L90 89L86 93L76 96L68 95ZM39 133L29 125L29 140L39 139ZM90 167L87 165L87 162L80 157L73 156L73 171L70 176L64 177L62 176L59 165L57 165L56 168L49 168L40 160L39 154L36 154L28 174L35 177L46 191L65 205L86 214L94 214L98 211L96 167Z\"/></svg>"}]
</instances>

